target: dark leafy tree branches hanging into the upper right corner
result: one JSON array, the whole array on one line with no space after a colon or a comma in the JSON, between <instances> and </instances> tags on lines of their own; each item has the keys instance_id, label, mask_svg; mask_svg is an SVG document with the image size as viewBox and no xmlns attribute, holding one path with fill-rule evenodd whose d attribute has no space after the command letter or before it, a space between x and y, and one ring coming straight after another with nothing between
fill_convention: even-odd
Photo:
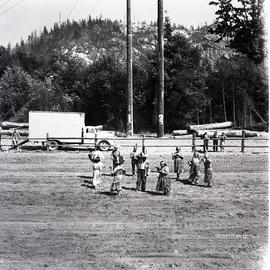
<instances>
[{"instance_id":1,"label":"dark leafy tree branches hanging into the upper right corner","mask_svg":"<svg viewBox=\"0 0 270 270\"><path fill-rule=\"evenodd\" d=\"M263 0L218 0L210 5L218 6L217 21L210 32L230 38L230 47L245 54L255 63L265 58Z\"/></svg>"}]
</instances>

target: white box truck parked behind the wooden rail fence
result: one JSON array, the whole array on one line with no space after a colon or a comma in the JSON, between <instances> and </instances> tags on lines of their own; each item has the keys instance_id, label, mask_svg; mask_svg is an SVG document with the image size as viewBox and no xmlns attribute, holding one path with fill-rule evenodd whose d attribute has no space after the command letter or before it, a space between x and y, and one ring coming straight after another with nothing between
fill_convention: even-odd
<instances>
[{"instance_id":1,"label":"white box truck parked behind the wooden rail fence","mask_svg":"<svg viewBox=\"0 0 270 270\"><path fill-rule=\"evenodd\" d=\"M85 126L82 112L29 112L29 141L47 145L51 151L64 144L97 145L101 151L108 151L114 146L114 136L114 131Z\"/></svg>"}]
</instances>

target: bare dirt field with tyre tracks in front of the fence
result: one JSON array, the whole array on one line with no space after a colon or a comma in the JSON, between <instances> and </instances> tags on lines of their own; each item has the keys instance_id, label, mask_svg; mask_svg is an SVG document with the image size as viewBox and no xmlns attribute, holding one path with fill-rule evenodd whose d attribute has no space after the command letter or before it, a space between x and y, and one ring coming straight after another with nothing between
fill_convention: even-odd
<instances>
[{"instance_id":1,"label":"bare dirt field with tyre tracks in front of the fence","mask_svg":"<svg viewBox=\"0 0 270 270\"><path fill-rule=\"evenodd\" d=\"M163 148L172 169L171 152ZM239 150L239 149L238 149ZM130 148L123 149L130 173ZM152 149L152 168L160 152ZM155 154L156 153L156 154ZM186 151L188 161L191 153ZM172 184L171 196L91 188L87 152L0 153L0 269L260 269L268 234L268 155L210 153L214 186ZM175 175L172 174L174 178ZM188 166L183 178L188 177Z\"/></svg>"}]
</instances>

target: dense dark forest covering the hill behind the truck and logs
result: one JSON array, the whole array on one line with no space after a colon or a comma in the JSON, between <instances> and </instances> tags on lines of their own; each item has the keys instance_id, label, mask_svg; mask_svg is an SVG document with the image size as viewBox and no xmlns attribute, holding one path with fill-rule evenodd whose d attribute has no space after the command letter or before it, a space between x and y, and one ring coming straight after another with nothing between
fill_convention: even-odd
<instances>
[{"instance_id":1,"label":"dense dark forest covering the hill behind the truck and logs","mask_svg":"<svg viewBox=\"0 0 270 270\"><path fill-rule=\"evenodd\" d=\"M268 119L265 69L244 54L210 65L176 26L165 22L165 129L190 123L233 121L248 127ZM151 36L152 35L152 36ZM156 25L134 34L135 131L156 129ZM86 64L73 57L96 50ZM65 51L68 51L67 53ZM103 52L103 53L101 53ZM29 110L83 111L87 124L125 130L125 31L117 21L92 19L55 24L14 48L0 46L0 120L27 121Z\"/></svg>"}]
</instances>

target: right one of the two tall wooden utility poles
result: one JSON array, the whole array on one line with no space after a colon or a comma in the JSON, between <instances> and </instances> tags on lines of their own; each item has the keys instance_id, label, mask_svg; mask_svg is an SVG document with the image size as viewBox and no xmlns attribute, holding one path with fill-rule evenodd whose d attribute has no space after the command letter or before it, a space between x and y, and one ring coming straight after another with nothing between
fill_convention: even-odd
<instances>
[{"instance_id":1,"label":"right one of the two tall wooden utility poles","mask_svg":"<svg viewBox=\"0 0 270 270\"><path fill-rule=\"evenodd\" d=\"M158 131L164 136L164 38L163 38L163 0L158 0Z\"/></svg>"}]
</instances>

